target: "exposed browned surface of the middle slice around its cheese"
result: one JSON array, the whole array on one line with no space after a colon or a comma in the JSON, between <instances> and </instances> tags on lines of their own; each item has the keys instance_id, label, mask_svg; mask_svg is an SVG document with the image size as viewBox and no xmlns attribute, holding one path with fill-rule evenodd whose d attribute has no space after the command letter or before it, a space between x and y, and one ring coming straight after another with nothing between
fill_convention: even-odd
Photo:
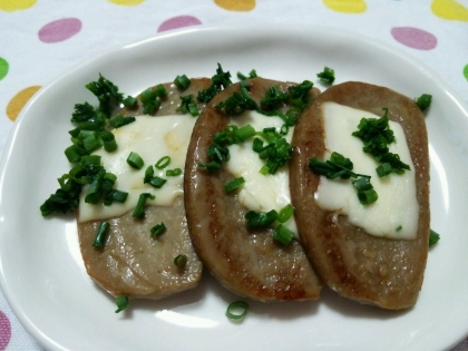
<instances>
[{"instance_id":1,"label":"exposed browned surface of the middle slice around its cheese","mask_svg":"<svg viewBox=\"0 0 468 351\"><path fill-rule=\"evenodd\" d=\"M251 79L251 95L260 101L271 86L285 90L291 84ZM272 230L247 230L247 212L235 194L223 185L233 176L221 168L209 173L198 167L206 163L212 136L223 130L231 118L214 106L224 101L238 84L227 87L208 103L195 125L185 167L185 208L196 253L211 273L241 296L261 301L318 299L321 283L296 241L289 246L272 238ZM318 90L313 89L313 96ZM283 106L282 110L287 106ZM235 193L235 192L233 192Z\"/></svg>"}]
</instances>

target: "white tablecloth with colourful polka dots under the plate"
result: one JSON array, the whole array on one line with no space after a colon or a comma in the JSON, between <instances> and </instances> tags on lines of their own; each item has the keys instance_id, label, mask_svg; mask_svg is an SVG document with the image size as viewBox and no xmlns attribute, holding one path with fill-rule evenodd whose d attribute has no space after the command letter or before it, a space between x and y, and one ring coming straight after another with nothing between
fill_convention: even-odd
<instances>
[{"instance_id":1,"label":"white tablecloth with colourful polka dots under the plate","mask_svg":"<svg viewBox=\"0 0 468 351\"><path fill-rule=\"evenodd\" d=\"M182 27L265 21L376 38L426 62L468 103L468 0L0 0L0 155L25 104L82 60ZM41 350L2 295L0 350ZM452 350L468 351L468 340Z\"/></svg>"}]
</instances>

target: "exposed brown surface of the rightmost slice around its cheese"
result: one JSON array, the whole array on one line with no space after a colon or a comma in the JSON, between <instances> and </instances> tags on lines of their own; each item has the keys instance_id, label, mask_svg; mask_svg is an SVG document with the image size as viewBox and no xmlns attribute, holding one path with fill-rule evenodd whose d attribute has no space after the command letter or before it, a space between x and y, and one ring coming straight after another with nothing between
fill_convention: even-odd
<instances>
[{"instance_id":1,"label":"exposed brown surface of the rightmost slice around its cheese","mask_svg":"<svg viewBox=\"0 0 468 351\"><path fill-rule=\"evenodd\" d=\"M420 205L415 241L389 240L367 234L347 216L334 221L332 212L314 201L320 176L310 170L312 157L325 152L321 105L334 101L378 116L387 107L390 120L399 123L415 165ZM429 235L429 154L423 116L415 103L390 89L362 82L331 87L316 98L298 123L292 144L290 186L299 233L308 256L323 281L339 294L386 309L413 305L421 289Z\"/></svg>"}]
</instances>

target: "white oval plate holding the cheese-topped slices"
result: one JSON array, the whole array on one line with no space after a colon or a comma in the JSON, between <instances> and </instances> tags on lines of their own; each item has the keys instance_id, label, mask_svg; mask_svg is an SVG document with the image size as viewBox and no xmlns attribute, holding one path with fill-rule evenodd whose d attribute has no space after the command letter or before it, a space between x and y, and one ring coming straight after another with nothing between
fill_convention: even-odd
<instances>
[{"instance_id":1,"label":"white oval plate holding the cheese-topped slices","mask_svg":"<svg viewBox=\"0 0 468 351\"><path fill-rule=\"evenodd\" d=\"M211 77L221 62L235 77L318 81L324 66L337 82L382 85L409 97L433 96L427 114L431 159L430 250L417 305L383 311L324 290L320 301L248 301L242 323L224 315L236 300L208 274L202 284L163 301L115 301L86 274L71 216L42 218L41 203L68 172L74 105L95 97L98 74L127 95L177 75ZM321 87L320 84L316 86ZM322 86L322 88L324 88ZM51 350L442 350L468 332L468 113L423 64L374 40L331 28L217 26L166 32L119 47L41 89L23 109L1 163L0 282L25 328Z\"/></svg>"}]
</instances>

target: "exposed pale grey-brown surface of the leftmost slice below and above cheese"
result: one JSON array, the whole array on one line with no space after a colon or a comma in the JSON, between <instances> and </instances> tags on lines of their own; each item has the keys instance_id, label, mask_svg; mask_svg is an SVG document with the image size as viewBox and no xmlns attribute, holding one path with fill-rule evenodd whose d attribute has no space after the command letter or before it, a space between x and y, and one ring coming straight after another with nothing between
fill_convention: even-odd
<instances>
[{"instance_id":1,"label":"exposed pale grey-brown surface of the leftmost slice below and above cheese","mask_svg":"<svg viewBox=\"0 0 468 351\"><path fill-rule=\"evenodd\" d=\"M192 79L186 90L165 84L167 98L153 115L157 118L158 115L182 114L177 110L179 96L192 94L196 97L209 84L208 78ZM198 109L203 107L198 104ZM124 108L119 113L124 116L142 115L142 103L136 109ZM187 115L187 118L194 117ZM146 206L143 220L133 218L130 211L108 222L110 228L104 248L92 246L100 221L78 223L78 236L88 274L110 294L162 299L197 285L203 266L192 246L183 197L168 207ZM162 222L166 232L157 238L152 237L150 228ZM174 264L174 257L179 254L187 255L184 269Z\"/></svg>"}]
</instances>

